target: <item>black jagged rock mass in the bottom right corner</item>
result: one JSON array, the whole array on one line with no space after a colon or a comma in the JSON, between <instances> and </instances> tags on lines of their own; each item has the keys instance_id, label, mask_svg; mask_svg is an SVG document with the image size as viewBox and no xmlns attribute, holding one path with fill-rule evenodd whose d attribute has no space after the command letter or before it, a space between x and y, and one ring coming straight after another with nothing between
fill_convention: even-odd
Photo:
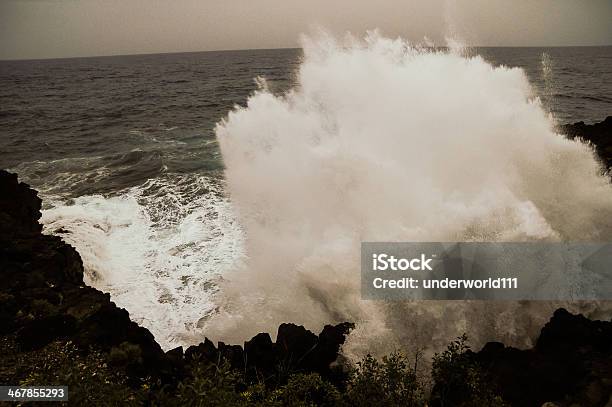
<instances>
[{"instance_id":1,"label":"black jagged rock mass in the bottom right corner","mask_svg":"<svg viewBox=\"0 0 612 407\"><path fill-rule=\"evenodd\" d=\"M533 349L492 342L474 355L513 406L605 406L612 394L612 322L555 311Z\"/></svg>"}]
</instances>

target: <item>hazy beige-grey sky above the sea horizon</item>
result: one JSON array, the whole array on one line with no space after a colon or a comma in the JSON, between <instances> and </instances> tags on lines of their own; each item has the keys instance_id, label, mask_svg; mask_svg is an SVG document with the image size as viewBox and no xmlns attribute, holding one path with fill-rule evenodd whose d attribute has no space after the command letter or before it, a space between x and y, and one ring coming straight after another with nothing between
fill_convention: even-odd
<instances>
[{"instance_id":1,"label":"hazy beige-grey sky above the sea horizon","mask_svg":"<svg viewBox=\"0 0 612 407\"><path fill-rule=\"evenodd\" d=\"M612 0L0 0L0 59L284 48L315 26L467 45L610 45Z\"/></svg>"}]
</instances>

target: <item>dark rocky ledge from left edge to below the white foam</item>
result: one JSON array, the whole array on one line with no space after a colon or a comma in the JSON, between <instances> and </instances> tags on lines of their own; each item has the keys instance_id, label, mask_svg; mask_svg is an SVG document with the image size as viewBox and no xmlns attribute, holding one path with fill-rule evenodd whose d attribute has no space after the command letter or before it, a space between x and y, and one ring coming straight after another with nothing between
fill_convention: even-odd
<instances>
[{"instance_id":1,"label":"dark rocky ledge from left edge to below the white foam","mask_svg":"<svg viewBox=\"0 0 612 407\"><path fill-rule=\"evenodd\" d=\"M126 373L166 383L189 375L193 357L212 362L225 358L233 368L261 377L288 364L298 371L332 374L330 364L352 324L328 325L318 336L302 326L282 324L276 343L261 333L244 347L215 346L205 339L185 352L164 352L108 294L85 285L77 251L60 237L41 233L40 208L36 191L19 183L17 175L0 170L0 335L12 336L20 351L56 340L69 340L84 351L136 349L138 357L125 366ZM14 383L5 375L1 383Z\"/></svg>"}]
</instances>

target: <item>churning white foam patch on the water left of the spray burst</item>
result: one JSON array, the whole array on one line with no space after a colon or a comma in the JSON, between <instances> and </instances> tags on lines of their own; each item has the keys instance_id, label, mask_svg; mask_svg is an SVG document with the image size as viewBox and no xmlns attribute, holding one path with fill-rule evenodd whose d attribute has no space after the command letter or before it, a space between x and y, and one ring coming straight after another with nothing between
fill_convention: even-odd
<instances>
[{"instance_id":1,"label":"churning white foam patch on the water left of the spray burst","mask_svg":"<svg viewBox=\"0 0 612 407\"><path fill-rule=\"evenodd\" d=\"M62 236L81 254L86 283L110 293L164 348L198 343L217 280L243 252L220 188L201 176L154 179L56 204L42 222L47 232L69 232Z\"/></svg>"}]
</instances>

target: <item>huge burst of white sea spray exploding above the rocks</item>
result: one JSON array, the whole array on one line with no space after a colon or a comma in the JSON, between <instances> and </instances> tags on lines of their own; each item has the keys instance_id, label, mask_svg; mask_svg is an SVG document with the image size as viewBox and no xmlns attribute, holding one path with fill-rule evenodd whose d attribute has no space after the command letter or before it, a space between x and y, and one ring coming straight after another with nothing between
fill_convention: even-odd
<instances>
[{"instance_id":1,"label":"huge burst of white sea spray exploding above the rocks","mask_svg":"<svg viewBox=\"0 0 612 407\"><path fill-rule=\"evenodd\" d=\"M363 301L360 242L608 240L592 149L555 134L521 69L376 32L303 43L291 91L261 81L216 129L247 260L224 275L206 335L349 320L349 356L462 332L529 345L560 304Z\"/></svg>"}]
</instances>

